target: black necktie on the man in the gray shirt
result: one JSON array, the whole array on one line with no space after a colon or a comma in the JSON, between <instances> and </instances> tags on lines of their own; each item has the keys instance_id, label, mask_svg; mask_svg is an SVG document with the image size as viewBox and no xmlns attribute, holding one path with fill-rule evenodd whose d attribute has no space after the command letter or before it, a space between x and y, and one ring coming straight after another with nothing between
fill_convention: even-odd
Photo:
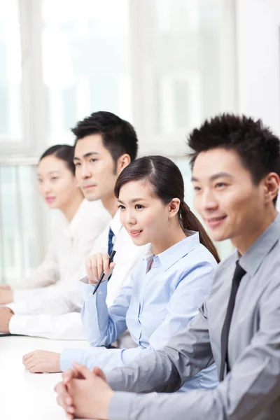
<instances>
[{"instance_id":1,"label":"black necktie on the man in the gray shirt","mask_svg":"<svg viewBox=\"0 0 280 420\"><path fill-rule=\"evenodd\" d=\"M230 292L230 300L228 301L227 314L225 315L225 322L223 323L222 335L221 335L221 372L220 372L220 381L223 381L225 374L225 365L227 367L227 372L230 371L230 366L228 363L228 334L230 332L230 323L232 321L232 313L235 307L235 297L237 295L237 290L239 288L240 281L246 271L240 267L239 262L236 263L235 274L233 274L232 279L232 290Z\"/></svg>"}]
</instances>

